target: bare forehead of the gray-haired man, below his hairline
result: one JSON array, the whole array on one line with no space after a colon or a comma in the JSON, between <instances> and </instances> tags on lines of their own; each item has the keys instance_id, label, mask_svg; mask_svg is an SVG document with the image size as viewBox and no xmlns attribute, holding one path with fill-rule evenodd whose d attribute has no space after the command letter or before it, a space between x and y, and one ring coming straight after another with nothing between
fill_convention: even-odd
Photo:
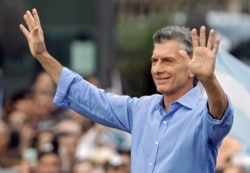
<instances>
[{"instance_id":1,"label":"bare forehead of the gray-haired man, below his hairline","mask_svg":"<svg viewBox=\"0 0 250 173\"><path fill-rule=\"evenodd\" d=\"M153 49L153 57L176 54L179 50L180 47L176 40L168 40L163 43L155 43Z\"/></svg>"}]
</instances>

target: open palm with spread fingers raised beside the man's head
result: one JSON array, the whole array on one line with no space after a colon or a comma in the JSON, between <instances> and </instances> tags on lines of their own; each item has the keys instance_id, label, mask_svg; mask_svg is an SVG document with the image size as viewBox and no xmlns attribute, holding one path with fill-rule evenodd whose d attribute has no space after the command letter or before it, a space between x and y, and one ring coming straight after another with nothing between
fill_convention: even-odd
<instances>
[{"instance_id":1,"label":"open palm with spread fingers raised beside the man's head","mask_svg":"<svg viewBox=\"0 0 250 173\"><path fill-rule=\"evenodd\" d=\"M211 79L214 75L216 54L219 48L219 39L215 39L215 31L209 32L206 39L206 28L200 28L200 37L197 30L192 30L193 57L188 63L188 68L197 78L203 82Z\"/></svg>"}]
</instances>

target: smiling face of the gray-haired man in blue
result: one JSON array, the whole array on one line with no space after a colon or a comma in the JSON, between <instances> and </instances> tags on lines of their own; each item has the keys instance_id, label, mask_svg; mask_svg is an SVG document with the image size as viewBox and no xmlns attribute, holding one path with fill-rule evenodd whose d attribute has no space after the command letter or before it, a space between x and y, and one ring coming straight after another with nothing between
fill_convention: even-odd
<instances>
[{"instance_id":1,"label":"smiling face of the gray-haired man in blue","mask_svg":"<svg viewBox=\"0 0 250 173\"><path fill-rule=\"evenodd\" d=\"M193 87L187 61L179 54L176 40L155 44L151 74L159 93L179 97Z\"/></svg>"}]
</instances>

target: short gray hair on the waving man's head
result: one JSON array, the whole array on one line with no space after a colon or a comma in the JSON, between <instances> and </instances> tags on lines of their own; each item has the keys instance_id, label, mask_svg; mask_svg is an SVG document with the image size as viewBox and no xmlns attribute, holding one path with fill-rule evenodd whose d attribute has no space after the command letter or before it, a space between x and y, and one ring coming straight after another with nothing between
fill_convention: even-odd
<instances>
[{"instance_id":1,"label":"short gray hair on the waving man's head","mask_svg":"<svg viewBox=\"0 0 250 173\"><path fill-rule=\"evenodd\" d=\"M183 26L166 26L157 30L153 35L154 44L164 43L169 40L176 40L180 49L185 50L190 58L193 55L193 45L191 31ZM198 79L194 77L194 86L197 85Z\"/></svg>"}]
</instances>

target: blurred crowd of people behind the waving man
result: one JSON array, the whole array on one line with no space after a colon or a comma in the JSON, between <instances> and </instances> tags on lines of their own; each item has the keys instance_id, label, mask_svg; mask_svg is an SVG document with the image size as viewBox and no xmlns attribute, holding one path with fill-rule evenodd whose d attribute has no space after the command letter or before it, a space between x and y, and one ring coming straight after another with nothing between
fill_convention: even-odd
<instances>
[{"instance_id":1,"label":"blurred crowd of people behind the waving man","mask_svg":"<svg viewBox=\"0 0 250 173\"><path fill-rule=\"evenodd\" d=\"M95 77L85 78L101 86ZM50 76L41 72L28 88L4 100L0 173L130 173L130 134L55 107L55 90ZM236 157L243 148L226 137L216 173L247 173Z\"/></svg>"}]
</instances>

